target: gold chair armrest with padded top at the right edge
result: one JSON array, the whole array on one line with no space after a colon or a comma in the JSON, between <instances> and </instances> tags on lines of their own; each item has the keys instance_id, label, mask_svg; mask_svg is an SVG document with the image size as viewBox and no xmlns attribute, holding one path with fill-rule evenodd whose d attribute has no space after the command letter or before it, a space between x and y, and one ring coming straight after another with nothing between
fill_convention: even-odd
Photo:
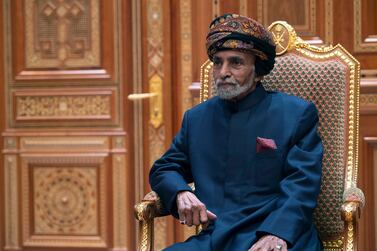
<instances>
[{"instance_id":1,"label":"gold chair armrest with padded top at the right edge","mask_svg":"<svg viewBox=\"0 0 377 251\"><path fill-rule=\"evenodd\" d=\"M360 218L361 208L365 204L363 191L357 187L351 187L344 191L343 205L341 207L341 217L345 227L345 249L357 250L356 236L358 233L358 219Z\"/></svg>"}]
</instances>

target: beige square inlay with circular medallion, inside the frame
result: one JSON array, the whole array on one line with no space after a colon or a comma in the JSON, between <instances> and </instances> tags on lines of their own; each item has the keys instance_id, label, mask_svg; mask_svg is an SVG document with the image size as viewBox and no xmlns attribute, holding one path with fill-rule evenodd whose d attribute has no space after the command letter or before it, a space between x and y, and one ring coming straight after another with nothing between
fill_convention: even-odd
<instances>
[{"instance_id":1,"label":"beige square inlay with circular medallion, inside the frame","mask_svg":"<svg viewBox=\"0 0 377 251\"><path fill-rule=\"evenodd\" d=\"M95 168L35 167L33 176L35 234L98 234Z\"/></svg>"}]
</instances>

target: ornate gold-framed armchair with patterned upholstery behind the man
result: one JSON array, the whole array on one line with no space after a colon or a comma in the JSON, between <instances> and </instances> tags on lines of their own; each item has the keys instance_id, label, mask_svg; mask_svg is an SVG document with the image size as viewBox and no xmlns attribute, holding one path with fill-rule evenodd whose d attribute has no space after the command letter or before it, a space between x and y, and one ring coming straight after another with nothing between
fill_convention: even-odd
<instances>
[{"instance_id":1,"label":"ornate gold-framed armchair with patterned upholstery behind the man","mask_svg":"<svg viewBox=\"0 0 377 251\"><path fill-rule=\"evenodd\" d=\"M325 250L357 250L357 220L364 195L357 185L359 63L341 45L315 47L297 37L286 22L269 30L277 45L274 70L263 80L279 90L312 101L319 110L324 143L323 179L315 221ZM200 100L212 94L212 63L201 68ZM135 206L140 251L153 250L153 219L166 215L158 195L149 193Z\"/></svg>"}]
</instances>

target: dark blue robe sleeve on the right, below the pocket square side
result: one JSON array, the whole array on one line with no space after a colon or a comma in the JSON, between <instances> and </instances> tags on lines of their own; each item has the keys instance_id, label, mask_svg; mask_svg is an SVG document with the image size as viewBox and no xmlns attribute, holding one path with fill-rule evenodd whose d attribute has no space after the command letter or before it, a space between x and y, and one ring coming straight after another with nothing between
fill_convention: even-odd
<instances>
[{"instance_id":1,"label":"dark blue robe sleeve on the right, below the pocket square side","mask_svg":"<svg viewBox=\"0 0 377 251\"><path fill-rule=\"evenodd\" d=\"M294 244L312 223L322 175L323 146L314 104L306 107L298 121L284 163L279 205L257 230L258 236L272 234L288 245Z\"/></svg>"}]
</instances>

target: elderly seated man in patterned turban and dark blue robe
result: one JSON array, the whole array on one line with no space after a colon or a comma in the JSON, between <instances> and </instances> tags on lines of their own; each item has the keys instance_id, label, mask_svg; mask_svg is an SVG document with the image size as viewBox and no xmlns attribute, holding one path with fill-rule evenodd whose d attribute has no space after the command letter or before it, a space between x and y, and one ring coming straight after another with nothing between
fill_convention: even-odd
<instances>
[{"instance_id":1,"label":"elderly seated man in patterned turban and dark blue robe","mask_svg":"<svg viewBox=\"0 0 377 251\"><path fill-rule=\"evenodd\" d=\"M207 52L217 95L185 113L150 172L163 206L205 229L166 250L322 250L312 216L323 151L315 106L263 88L275 46L256 21L216 18Z\"/></svg>"}]
</instances>

